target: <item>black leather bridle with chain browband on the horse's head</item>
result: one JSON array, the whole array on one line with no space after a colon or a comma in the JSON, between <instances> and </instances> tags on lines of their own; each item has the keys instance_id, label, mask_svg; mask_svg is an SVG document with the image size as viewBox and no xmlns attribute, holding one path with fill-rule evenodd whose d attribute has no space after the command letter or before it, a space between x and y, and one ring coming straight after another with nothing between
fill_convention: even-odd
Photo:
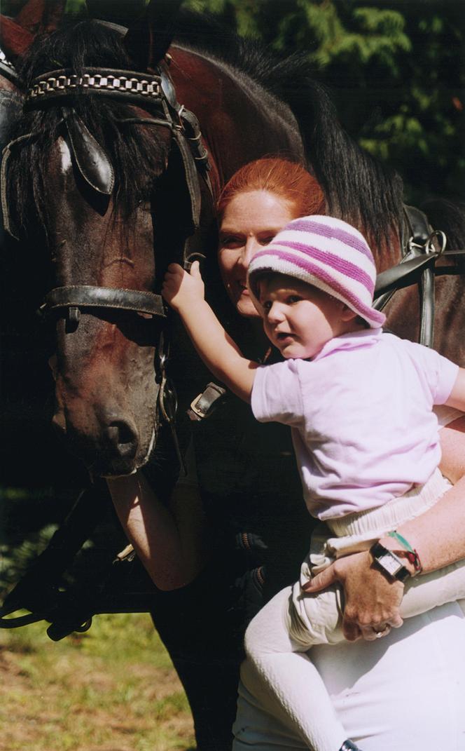
<instances>
[{"instance_id":1,"label":"black leather bridle with chain browband on the horse's head","mask_svg":"<svg viewBox=\"0 0 465 751\"><path fill-rule=\"evenodd\" d=\"M97 96L143 106L154 113L153 117L126 118L120 122L137 125L161 125L169 128L172 140L178 147L184 167L185 184L190 197L190 218L184 237L183 262L188 262L188 238L199 228L201 191L199 173L202 173L211 192L208 179L208 153L202 144L196 116L178 104L175 88L165 65L160 65L154 75L136 71L83 68L78 76L64 69L49 71L37 77L26 95L25 107L37 110L49 104L72 104L76 96ZM89 133L77 116L64 116L71 149L80 173L90 188L102 195L113 192L113 167L100 144ZM7 161L12 150L33 134L13 140L5 147L2 160L1 198L5 229L13 237L5 189ZM166 308L160 294L125 288L105 288L93 285L70 285L53 288L46 294L40 312L65 312L70 321L79 321L81 309L117 309L145 313L166 318Z\"/></svg>"}]
</instances>

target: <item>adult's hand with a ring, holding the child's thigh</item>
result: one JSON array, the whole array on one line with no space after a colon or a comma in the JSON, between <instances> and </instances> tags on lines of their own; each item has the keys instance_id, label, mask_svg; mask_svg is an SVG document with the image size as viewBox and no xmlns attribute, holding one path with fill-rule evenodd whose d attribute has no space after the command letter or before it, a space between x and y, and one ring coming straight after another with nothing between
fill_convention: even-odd
<instances>
[{"instance_id":1,"label":"adult's hand with a ring, holding the child's thigh","mask_svg":"<svg viewBox=\"0 0 465 751\"><path fill-rule=\"evenodd\" d=\"M387 633L391 627L398 629L404 623L399 614L404 584L388 581L375 569L369 550L338 559L302 589L313 594L331 584L341 584L344 589L342 628L347 641L372 641L378 633Z\"/></svg>"}]
</instances>

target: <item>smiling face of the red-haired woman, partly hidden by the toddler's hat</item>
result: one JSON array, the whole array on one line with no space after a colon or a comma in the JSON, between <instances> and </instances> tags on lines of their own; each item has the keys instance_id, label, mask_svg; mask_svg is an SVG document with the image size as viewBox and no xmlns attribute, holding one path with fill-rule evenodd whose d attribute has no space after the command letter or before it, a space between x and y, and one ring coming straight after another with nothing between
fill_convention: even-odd
<instances>
[{"instance_id":1,"label":"smiling face of the red-haired woman, partly hidden by the toddler's hat","mask_svg":"<svg viewBox=\"0 0 465 751\"><path fill-rule=\"evenodd\" d=\"M293 219L293 204L266 190L239 193L227 204L220 223L218 263L226 291L240 315L259 315L247 288L251 259Z\"/></svg>"}]
</instances>

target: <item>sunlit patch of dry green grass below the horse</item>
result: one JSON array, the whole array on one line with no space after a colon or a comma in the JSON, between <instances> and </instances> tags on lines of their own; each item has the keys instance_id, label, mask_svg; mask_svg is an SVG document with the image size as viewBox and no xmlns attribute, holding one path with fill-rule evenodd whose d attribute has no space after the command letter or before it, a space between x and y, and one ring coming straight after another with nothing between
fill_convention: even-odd
<instances>
[{"instance_id":1,"label":"sunlit patch of dry green grass below the horse","mask_svg":"<svg viewBox=\"0 0 465 751\"><path fill-rule=\"evenodd\" d=\"M52 642L0 631L0 751L187 751L190 711L145 614L99 615Z\"/></svg>"}]
</instances>

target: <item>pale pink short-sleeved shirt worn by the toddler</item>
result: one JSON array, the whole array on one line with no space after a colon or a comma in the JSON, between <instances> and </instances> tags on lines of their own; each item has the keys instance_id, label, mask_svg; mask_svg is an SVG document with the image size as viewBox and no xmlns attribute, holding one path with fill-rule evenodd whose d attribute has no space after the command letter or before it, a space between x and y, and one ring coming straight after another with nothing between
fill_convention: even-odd
<instances>
[{"instance_id":1,"label":"pale pink short-sleeved shirt worn by the toddler","mask_svg":"<svg viewBox=\"0 0 465 751\"><path fill-rule=\"evenodd\" d=\"M327 342L313 360L257 369L252 409L290 425L305 502L334 519L383 505L423 484L440 463L435 404L458 366L381 329Z\"/></svg>"}]
</instances>

